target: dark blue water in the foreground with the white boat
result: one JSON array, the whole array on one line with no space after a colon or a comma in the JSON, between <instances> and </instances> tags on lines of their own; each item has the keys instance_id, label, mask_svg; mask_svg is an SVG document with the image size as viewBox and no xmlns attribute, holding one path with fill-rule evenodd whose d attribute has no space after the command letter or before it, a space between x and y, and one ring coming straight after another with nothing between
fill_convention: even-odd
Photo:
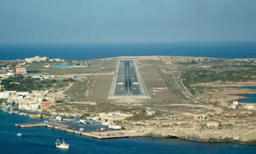
<instances>
[{"instance_id":1,"label":"dark blue water in the foreground with the white boat","mask_svg":"<svg viewBox=\"0 0 256 154\"><path fill-rule=\"evenodd\" d=\"M15 123L41 121L0 112L0 154L255 154L256 151L256 146L232 143L154 137L99 140L45 127L15 127ZM23 136L18 137L17 133ZM56 148L57 138L64 138L70 149Z\"/></svg>"}]
</instances>

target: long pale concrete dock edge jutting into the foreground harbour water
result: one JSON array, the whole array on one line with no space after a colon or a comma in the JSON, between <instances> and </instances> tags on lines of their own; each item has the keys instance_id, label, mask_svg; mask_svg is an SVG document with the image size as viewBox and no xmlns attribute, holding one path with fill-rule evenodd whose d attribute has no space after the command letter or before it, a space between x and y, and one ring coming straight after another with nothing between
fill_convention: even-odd
<instances>
[{"instance_id":1,"label":"long pale concrete dock edge jutting into the foreground harbour water","mask_svg":"<svg viewBox=\"0 0 256 154\"><path fill-rule=\"evenodd\" d=\"M81 132L77 130L70 129L70 125L63 123L16 123L15 126L21 128L31 128L31 127L47 127L55 130L61 130L64 132L74 133L83 135L86 137L93 137L97 139L115 139L115 138L127 138L127 137L142 137L129 130L119 130L119 131L108 131L108 132Z\"/></svg>"}]
</instances>

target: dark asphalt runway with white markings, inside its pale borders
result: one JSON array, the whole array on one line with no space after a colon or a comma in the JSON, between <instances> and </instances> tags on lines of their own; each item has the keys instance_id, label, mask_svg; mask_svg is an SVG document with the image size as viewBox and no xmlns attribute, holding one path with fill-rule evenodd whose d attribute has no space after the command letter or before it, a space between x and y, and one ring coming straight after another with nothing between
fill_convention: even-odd
<instances>
[{"instance_id":1,"label":"dark asphalt runway with white markings, inside its pale borders","mask_svg":"<svg viewBox=\"0 0 256 154\"><path fill-rule=\"evenodd\" d=\"M120 60L114 96L142 96L141 84L133 60Z\"/></svg>"}]
</instances>

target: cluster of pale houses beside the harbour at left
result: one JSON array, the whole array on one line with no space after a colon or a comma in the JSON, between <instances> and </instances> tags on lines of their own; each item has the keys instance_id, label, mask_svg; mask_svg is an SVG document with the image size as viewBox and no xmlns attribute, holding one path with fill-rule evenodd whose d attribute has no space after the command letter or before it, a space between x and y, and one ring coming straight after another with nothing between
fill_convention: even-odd
<instances>
[{"instance_id":1,"label":"cluster of pale houses beside the harbour at left","mask_svg":"<svg viewBox=\"0 0 256 154\"><path fill-rule=\"evenodd\" d=\"M0 99L18 104L20 110L42 111L48 109L49 106L56 104L57 100L63 100L62 95L50 93L49 91L32 91L18 92L18 91L4 91L0 92Z\"/></svg>"}]
</instances>

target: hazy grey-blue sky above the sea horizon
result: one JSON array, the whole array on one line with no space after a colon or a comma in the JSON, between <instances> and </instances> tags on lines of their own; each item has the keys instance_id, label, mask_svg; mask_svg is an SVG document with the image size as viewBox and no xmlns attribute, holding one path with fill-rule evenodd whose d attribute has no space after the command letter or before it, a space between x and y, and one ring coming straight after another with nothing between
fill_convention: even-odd
<instances>
[{"instance_id":1,"label":"hazy grey-blue sky above the sea horizon","mask_svg":"<svg viewBox=\"0 0 256 154\"><path fill-rule=\"evenodd\" d=\"M0 43L256 41L256 0L0 0Z\"/></svg>"}]
</instances>

